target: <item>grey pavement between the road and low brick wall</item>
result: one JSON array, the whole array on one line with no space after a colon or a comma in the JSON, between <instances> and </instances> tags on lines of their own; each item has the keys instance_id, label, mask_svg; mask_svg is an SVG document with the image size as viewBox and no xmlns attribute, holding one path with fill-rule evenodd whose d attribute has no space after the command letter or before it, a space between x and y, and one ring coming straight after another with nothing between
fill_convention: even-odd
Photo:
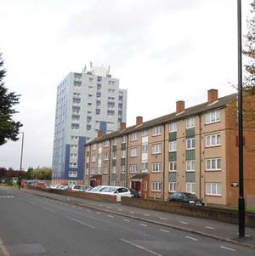
<instances>
[{"instance_id":1,"label":"grey pavement between the road and low brick wall","mask_svg":"<svg viewBox=\"0 0 255 256\"><path fill-rule=\"evenodd\" d=\"M21 189L20 192L43 196L61 202L68 202L80 207L91 208L96 211L116 214L126 218L139 219L148 223L170 227L176 230L184 230L196 235L207 236L219 241L230 242L255 250L255 228L251 227L246 227L246 236L240 238L238 236L238 225L223 223L211 219L201 219L173 213L164 213L144 208L130 207L122 205L121 203L115 204L99 202L85 198L64 196L24 188Z\"/></svg>"}]
</instances>

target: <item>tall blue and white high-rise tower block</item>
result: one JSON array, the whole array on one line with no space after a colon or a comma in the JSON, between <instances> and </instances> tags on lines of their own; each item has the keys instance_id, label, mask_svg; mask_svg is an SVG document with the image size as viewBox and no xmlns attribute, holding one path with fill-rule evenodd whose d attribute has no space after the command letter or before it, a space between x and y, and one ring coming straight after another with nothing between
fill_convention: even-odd
<instances>
[{"instance_id":1,"label":"tall blue and white high-rise tower block","mask_svg":"<svg viewBox=\"0 0 255 256\"><path fill-rule=\"evenodd\" d=\"M57 88L53 174L54 184L82 184L84 145L116 131L127 117L127 90L109 69L91 65L70 72Z\"/></svg>"}]
</instances>

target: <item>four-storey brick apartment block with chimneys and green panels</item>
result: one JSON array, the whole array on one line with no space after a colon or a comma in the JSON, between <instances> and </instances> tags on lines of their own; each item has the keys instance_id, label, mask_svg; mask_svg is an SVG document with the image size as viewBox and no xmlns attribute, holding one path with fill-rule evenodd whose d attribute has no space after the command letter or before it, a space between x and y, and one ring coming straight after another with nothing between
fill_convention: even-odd
<instances>
[{"instance_id":1,"label":"four-storey brick apartment block with chimneys and green panels","mask_svg":"<svg viewBox=\"0 0 255 256\"><path fill-rule=\"evenodd\" d=\"M238 130L236 94L218 98L149 122L102 135L85 146L84 182L123 185L144 197L167 200L174 191L195 194L208 204L238 202ZM254 130L245 130L245 195L255 195ZM253 144L253 145L252 145Z\"/></svg>"}]
</instances>

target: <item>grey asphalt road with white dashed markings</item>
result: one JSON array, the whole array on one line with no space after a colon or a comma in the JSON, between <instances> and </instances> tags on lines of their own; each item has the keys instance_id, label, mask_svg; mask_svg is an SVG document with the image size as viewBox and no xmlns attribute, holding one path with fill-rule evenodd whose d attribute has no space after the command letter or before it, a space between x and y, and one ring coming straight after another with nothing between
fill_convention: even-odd
<instances>
[{"instance_id":1,"label":"grey asphalt road with white dashed markings","mask_svg":"<svg viewBox=\"0 0 255 256\"><path fill-rule=\"evenodd\" d=\"M0 187L0 255L254 255L182 230Z\"/></svg>"}]
</instances>

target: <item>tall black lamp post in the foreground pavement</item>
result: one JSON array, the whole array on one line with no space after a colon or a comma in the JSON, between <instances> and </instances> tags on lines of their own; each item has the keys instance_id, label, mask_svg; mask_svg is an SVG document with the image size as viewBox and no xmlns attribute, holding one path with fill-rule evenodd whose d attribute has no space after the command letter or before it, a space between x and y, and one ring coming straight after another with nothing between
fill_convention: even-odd
<instances>
[{"instance_id":1,"label":"tall black lamp post in the foreground pavement","mask_svg":"<svg viewBox=\"0 0 255 256\"><path fill-rule=\"evenodd\" d=\"M243 126L242 126L242 64L241 64L241 0L237 0L238 24L238 139L239 139L239 237L245 236L245 198L243 189Z\"/></svg>"}]
</instances>

